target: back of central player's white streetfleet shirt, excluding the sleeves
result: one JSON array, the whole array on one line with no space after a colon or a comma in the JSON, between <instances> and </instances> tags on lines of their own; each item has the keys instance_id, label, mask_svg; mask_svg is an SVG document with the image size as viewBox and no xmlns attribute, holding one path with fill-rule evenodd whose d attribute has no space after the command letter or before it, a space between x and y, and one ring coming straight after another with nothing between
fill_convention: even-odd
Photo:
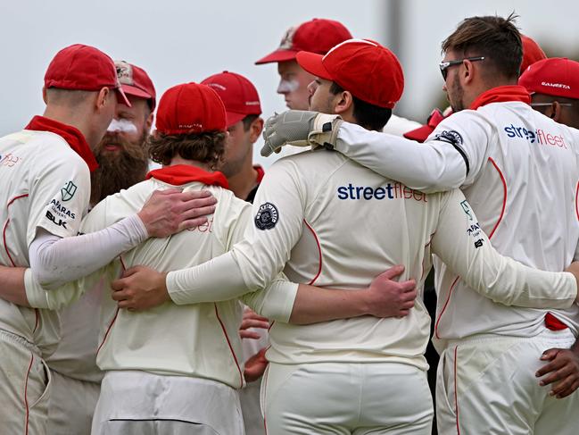
<instances>
[{"instance_id":1,"label":"back of central player's white streetfleet shirt, excluding the sleeves","mask_svg":"<svg viewBox=\"0 0 579 435\"><path fill-rule=\"evenodd\" d=\"M413 191L323 149L286 157L266 177L293 180L303 207L302 233L284 270L290 280L355 289L394 264L404 264L401 280L415 278L422 289L431 264L429 241L447 194ZM268 192L258 192L254 204L261 205L264 195ZM274 196L269 206L277 208ZM279 207L280 221L294 219L284 211ZM415 309L403 319L275 323L268 356L280 364L390 360L426 368L429 322L420 293Z\"/></svg>"}]
</instances>

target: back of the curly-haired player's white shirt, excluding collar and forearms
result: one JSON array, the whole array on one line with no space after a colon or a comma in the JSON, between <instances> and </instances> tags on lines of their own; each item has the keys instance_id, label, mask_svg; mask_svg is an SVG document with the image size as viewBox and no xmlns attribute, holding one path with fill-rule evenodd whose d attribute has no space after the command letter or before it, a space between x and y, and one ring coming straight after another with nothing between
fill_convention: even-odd
<instances>
[{"instance_id":1,"label":"back of the curly-haired player's white shirt, excluding collar and forearms","mask_svg":"<svg viewBox=\"0 0 579 435\"><path fill-rule=\"evenodd\" d=\"M83 230L98 230L136 213L155 189L170 187L151 179L107 197L88 214ZM134 265L170 272L203 264L227 252L241 238L249 219L249 205L225 188L198 181L180 187L207 189L217 198L217 208L209 216L209 222L169 238L147 239L108 266L109 281ZM240 388L241 345L237 328L241 314L237 300L196 305L167 302L131 313L118 309L105 295L97 364L105 371L143 370L197 376Z\"/></svg>"}]
</instances>

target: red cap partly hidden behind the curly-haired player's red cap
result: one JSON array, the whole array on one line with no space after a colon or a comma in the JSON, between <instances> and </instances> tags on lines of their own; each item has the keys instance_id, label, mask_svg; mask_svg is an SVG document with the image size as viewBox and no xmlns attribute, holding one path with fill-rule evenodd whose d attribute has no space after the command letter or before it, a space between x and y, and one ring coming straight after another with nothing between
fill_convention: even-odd
<instances>
[{"instance_id":1,"label":"red cap partly hidden behind the curly-haired player's red cap","mask_svg":"<svg viewBox=\"0 0 579 435\"><path fill-rule=\"evenodd\" d=\"M231 127L247 115L260 115L260 96L252 82L241 74L223 71L214 74L201 82L221 97L227 113L227 127Z\"/></svg>"}]
</instances>

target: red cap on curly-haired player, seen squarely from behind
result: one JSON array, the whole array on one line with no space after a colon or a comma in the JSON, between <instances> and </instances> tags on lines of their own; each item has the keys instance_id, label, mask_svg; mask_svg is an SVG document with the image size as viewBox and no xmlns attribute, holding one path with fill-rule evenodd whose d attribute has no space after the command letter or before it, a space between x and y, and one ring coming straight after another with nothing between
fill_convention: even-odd
<instances>
[{"instance_id":1,"label":"red cap on curly-haired player, seen squarely from behind","mask_svg":"<svg viewBox=\"0 0 579 435\"><path fill-rule=\"evenodd\" d=\"M217 92L208 86L177 85L161 96L156 128L167 135L225 131L225 106Z\"/></svg>"}]
</instances>

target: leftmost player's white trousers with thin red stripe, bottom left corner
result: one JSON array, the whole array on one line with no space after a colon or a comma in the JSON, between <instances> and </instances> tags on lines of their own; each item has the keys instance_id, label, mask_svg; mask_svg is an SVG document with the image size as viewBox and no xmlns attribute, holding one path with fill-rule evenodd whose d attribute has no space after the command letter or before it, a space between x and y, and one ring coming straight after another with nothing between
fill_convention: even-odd
<instances>
[{"instance_id":1,"label":"leftmost player's white trousers with thin red stripe, bottom left corner","mask_svg":"<svg viewBox=\"0 0 579 435\"><path fill-rule=\"evenodd\" d=\"M45 435L50 371L37 348L0 330L0 433Z\"/></svg>"}]
</instances>

